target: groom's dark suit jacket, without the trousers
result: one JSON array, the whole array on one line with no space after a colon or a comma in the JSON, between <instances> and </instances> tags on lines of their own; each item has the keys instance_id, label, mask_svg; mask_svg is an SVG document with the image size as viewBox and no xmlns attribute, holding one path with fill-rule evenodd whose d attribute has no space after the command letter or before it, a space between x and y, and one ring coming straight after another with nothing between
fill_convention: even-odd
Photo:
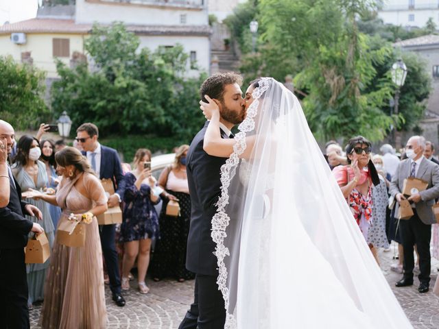
<instances>
[{"instance_id":1,"label":"groom's dark suit jacket, without the trousers","mask_svg":"<svg viewBox=\"0 0 439 329\"><path fill-rule=\"evenodd\" d=\"M191 195L191 225L187 239L186 267L194 273L216 276L217 258L211 238L215 204L221 195L221 166L227 158L209 156L204 149L204 134L209 122L193 138L187 152L187 181ZM228 136L221 131L222 138Z\"/></svg>"}]
</instances>

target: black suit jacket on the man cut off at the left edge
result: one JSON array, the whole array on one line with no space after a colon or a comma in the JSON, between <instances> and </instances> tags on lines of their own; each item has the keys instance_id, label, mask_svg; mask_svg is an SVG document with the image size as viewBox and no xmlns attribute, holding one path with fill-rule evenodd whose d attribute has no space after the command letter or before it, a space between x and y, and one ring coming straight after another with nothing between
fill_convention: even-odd
<instances>
[{"instance_id":1,"label":"black suit jacket on the man cut off at the left edge","mask_svg":"<svg viewBox=\"0 0 439 329\"><path fill-rule=\"evenodd\" d=\"M14 178L15 181L15 178ZM21 188L10 181L9 204L0 208L0 249L23 248L34 223L23 216L26 202L21 201Z\"/></svg>"}]
</instances>

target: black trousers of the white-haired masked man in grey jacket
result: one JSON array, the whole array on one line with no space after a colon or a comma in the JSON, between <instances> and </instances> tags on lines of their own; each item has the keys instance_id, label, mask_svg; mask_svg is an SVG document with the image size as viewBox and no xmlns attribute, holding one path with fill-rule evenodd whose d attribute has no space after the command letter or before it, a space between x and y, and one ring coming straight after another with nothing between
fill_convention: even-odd
<instances>
[{"instance_id":1,"label":"black trousers of the white-haired masked man in grey jacket","mask_svg":"<svg viewBox=\"0 0 439 329\"><path fill-rule=\"evenodd\" d=\"M430 239L431 225L423 223L414 210L414 216L408 220L399 222L401 239L404 248L404 278L413 279L414 268L414 245L419 254L419 281L429 284L430 282Z\"/></svg>"}]
</instances>

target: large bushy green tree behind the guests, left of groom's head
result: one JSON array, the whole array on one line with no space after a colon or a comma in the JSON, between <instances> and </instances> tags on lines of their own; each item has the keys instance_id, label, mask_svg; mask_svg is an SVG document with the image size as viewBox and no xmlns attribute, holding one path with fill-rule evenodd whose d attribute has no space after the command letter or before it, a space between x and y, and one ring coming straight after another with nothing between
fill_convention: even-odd
<instances>
[{"instance_id":1,"label":"large bushy green tree behind the guests, left of groom's head","mask_svg":"<svg viewBox=\"0 0 439 329\"><path fill-rule=\"evenodd\" d=\"M204 121L198 110L204 75L185 78L188 55L181 45L154 52L138 47L139 38L123 24L95 25L85 45L94 69L58 62L61 79L52 86L52 107L66 110L73 127L92 121L106 135L191 138Z\"/></svg>"}]
</instances>

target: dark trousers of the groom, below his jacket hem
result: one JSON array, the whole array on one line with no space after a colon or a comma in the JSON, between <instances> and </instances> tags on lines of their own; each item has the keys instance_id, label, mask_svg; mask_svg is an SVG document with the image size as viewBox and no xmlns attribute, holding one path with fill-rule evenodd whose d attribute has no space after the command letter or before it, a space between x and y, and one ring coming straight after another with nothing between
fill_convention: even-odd
<instances>
[{"instance_id":1,"label":"dark trousers of the groom, below his jacket hem","mask_svg":"<svg viewBox=\"0 0 439 329\"><path fill-rule=\"evenodd\" d=\"M193 303L178 329L223 329L226 310L217 276L195 276Z\"/></svg>"}]
</instances>

